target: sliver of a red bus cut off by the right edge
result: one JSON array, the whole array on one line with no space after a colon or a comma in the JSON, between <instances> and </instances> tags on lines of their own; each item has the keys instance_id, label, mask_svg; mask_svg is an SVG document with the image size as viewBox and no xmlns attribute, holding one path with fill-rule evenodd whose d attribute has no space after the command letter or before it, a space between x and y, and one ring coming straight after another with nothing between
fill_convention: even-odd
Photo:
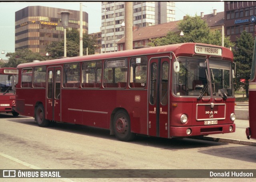
<instances>
[{"instance_id":1,"label":"sliver of a red bus cut off by the right edge","mask_svg":"<svg viewBox=\"0 0 256 182\"><path fill-rule=\"evenodd\" d=\"M255 35L256 35L256 26L255 26ZM256 122L255 122L255 101L256 101L256 37L254 38L254 50L252 56L252 69L251 77L249 82L249 128L246 128L246 136L248 139L256 139Z\"/></svg>"}]
</instances>

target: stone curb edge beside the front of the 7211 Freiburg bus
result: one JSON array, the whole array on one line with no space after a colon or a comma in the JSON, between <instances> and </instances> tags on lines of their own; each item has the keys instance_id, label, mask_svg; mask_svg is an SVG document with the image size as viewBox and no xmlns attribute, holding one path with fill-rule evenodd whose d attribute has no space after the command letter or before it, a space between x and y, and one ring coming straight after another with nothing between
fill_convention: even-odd
<instances>
[{"instance_id":1,"label":"stone curb edge beside the front of the 7211 Freiburg bus","mask_svg":"<svg viewBox=\"0 0 256 182\"><path fill-rule=\"evenodd\" d=\"M233 144L240 144L240 145L248 145L248 146L256 146L256 142L248 142L244 140L234 140L234 139L227 139L227 138L214 138L214 137L193 137L194 139L198 140L208 140L212 142L224 142L224 143L233 143Z\"/></svg>"}]
</instances>

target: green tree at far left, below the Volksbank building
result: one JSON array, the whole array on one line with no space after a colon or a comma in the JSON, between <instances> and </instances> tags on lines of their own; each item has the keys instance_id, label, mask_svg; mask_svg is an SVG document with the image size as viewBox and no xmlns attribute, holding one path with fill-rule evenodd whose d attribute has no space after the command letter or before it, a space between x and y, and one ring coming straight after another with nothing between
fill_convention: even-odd
<instances>
[{"instance_id":1,"label":"green tree at far left, below the Volksbank building","mask_svg":"<svg viewBox=\"0 0 256 182\"><path fill-rule=\"evenodd\" d=\"M45 56L40 53L33 53L29 49L18 49L14 53L7 53L6 57L9 57L8 63L4 63L3 67L17 67L21 63L29 63L34 60L44 61Z\"/></svg>"}]
</instances>

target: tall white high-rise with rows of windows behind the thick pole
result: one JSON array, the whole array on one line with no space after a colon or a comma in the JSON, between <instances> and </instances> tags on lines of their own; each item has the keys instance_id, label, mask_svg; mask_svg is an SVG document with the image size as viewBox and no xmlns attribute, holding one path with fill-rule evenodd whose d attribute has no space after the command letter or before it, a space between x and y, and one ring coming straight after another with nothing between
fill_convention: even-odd
<instances>
[{"instance_id":1,"label":"tall white high-rise with rows of windows behind the thick pole","mask_svg":"<svg viewBox=\"0 0 256 182\"><path fill-rule=\"evenodd\" d=\"M125 2L102 2L102 53L117 51L124 36ZM133 2L133 26L145 27L175 21L174 2Z\"/></svg>"}]
</instances>

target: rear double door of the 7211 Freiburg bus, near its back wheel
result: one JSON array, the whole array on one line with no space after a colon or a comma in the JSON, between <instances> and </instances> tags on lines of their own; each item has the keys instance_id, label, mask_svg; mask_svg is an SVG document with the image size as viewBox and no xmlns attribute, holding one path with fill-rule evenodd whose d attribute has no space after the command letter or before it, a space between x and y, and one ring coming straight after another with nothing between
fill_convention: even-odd
<instances>
[{"instance_id":1,"label":"rear double door of the 7211 Freiburg bus, near its back wheel","mask_svg":"<svg viewBox=\"0 0 256 182\"><path fill-rule=\"evenodd\" d=\"M46 119L61 121L61 75L62 67L48 67L46 92Z\"/></svg>"}]
</instances>

